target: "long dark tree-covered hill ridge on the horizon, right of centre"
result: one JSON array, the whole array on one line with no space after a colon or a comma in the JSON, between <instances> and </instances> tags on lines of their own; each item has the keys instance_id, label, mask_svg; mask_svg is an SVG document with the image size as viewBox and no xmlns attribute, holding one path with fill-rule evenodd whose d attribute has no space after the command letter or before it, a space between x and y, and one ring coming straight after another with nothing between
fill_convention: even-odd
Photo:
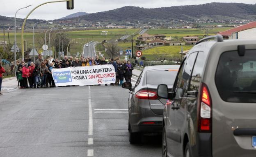
<instances>
[{"instance_id":1,"label":"long dark tree-covered hill ridge on the horizon, right of centre","mask_svg":"<svg viewBox=\"0 0 256 157\"><path fill-rule=\"evenodd\" d=\"M187 5L175 7L162 7L146 9L127 6L110 11L90 13L72 20L73 22L158 22L171 20L195 20L195 19L232 20L256 19L256 4L243 3L208 3L201 5Z\"/></svg>"}]
</instances>

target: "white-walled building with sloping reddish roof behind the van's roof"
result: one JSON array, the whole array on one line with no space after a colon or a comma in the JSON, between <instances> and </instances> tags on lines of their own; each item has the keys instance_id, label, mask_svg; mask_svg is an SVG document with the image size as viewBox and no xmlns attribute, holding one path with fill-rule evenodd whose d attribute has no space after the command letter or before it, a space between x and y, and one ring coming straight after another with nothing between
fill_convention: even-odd
<instances>
[{"instance_id":1,"label":"white-walled building with sloping reddish roof behind the van's roof","mask_svg":"<svg viewBox=\"0 0 256 157\"><path fill-rule=\"evenodd\" d=\"M250 22L227 31L218 33L224 39L256 39L256 22Z\"/></svg>"}]
</instances>

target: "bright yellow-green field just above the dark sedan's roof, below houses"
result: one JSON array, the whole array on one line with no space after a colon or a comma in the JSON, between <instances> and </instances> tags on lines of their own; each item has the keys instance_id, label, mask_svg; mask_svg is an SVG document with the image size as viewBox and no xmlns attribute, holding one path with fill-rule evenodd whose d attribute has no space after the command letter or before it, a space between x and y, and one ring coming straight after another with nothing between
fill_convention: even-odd
<instances>
[{"instance_id":1,"label":"bright yellow-green field just above the dark sedan's roof, below houses","mask_svg":"<svg viewBox=\"0 0 256 157\"><path fill-rule=\"evenodd\" d=\"M193 46L183 46L183 51L190 50ZM181 52L181 46L159 46L152 49L146 49L142 51L146 60L157 60L162 56L166 60L170 60L175 56L179 56Z\"/></svg>"}]
</instances>

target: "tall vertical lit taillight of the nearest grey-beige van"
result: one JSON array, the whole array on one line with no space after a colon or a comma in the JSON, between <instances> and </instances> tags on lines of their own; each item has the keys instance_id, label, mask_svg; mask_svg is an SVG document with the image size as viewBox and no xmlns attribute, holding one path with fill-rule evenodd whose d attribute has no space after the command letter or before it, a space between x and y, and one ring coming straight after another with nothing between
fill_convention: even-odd
<instances>
[{"instance_id":1,"label":"tall vertical lit taillight of the nearest grey-beige van","mask_svg":"<svg viewBox=\"0 0 256 157\"><path fill-rule=\"evenodd\" d=\"M199 120L198 130L199 132L211 132L212 126L212 104L211 104L210 92L206 84L201 85L201 95L199 103Z\"/></svg>"}]
</instances>

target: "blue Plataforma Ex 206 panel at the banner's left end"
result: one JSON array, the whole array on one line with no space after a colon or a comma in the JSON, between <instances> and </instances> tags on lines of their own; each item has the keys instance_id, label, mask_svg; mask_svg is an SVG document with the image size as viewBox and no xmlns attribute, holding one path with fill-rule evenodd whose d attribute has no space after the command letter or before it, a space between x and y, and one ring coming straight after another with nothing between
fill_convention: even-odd
<instances>
[{"instance_id":1,"label":"blue Plataforma Ex 206 panel at the banner's left end","mask_svg":"<svg viewBox=\"0 0 256 157\"><path fill-rule=\"evenodd\" d=\"M53 72L53 79L55 83L68 83L72 82L71 71Z\"/></svg>"}]
</instances>

